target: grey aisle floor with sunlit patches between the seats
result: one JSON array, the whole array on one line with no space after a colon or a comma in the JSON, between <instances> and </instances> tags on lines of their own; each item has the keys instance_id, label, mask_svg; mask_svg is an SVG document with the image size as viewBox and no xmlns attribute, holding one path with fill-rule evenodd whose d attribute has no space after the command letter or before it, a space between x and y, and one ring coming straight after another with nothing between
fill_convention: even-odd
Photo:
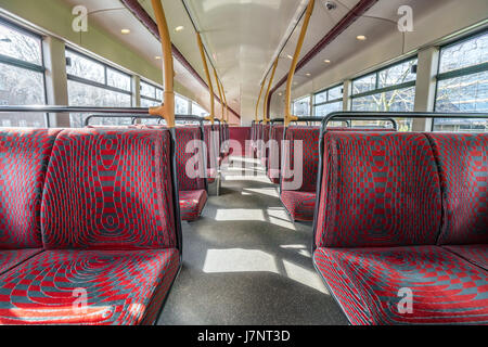
<instances>
[{"instance_id":1,"label":"grey aisle floor with sunlit patches between the seats","mask_svg":"<svg viewBox=\"0 0 488 347\"><path fill-rule=\"evenodd\" d=\"M313 270L311 226L291 222L262 169L224 175L221 196L183 223L183 270L159 323L347 323Z\"/></svg>"}]
</instances>

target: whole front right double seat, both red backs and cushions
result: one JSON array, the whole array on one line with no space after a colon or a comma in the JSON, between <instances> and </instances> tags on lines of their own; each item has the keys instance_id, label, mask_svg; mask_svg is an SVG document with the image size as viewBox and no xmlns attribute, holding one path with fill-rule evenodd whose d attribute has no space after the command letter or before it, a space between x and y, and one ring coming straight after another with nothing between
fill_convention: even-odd
<instances>
[{"instance_id":1,"label":"whole front right double seat, both red backs and cushions","mask_svg":"<svg viewBox=\"0 0 488 347\"><path fill-rule=\"evenodd\" d=\"M351 324L488 323L488 136L328 131L313 261Z\"/></svg>"}]
</instances>

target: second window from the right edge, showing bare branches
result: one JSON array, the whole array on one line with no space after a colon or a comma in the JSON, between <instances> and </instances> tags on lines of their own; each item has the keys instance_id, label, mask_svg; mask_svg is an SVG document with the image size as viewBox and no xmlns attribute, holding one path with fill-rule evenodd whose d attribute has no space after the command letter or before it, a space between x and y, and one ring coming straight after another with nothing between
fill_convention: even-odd
<instances>
[{"instance_id":1,"label":"second window from the right edge, showing bare branches","mask_svg":"<svg viewBox=\"0 0 488 347\"><path fill-rule=\"evenodd\" d=\"M352 81L352 111L413 112L418 60L380 69ZM400 131L412 129L412 119L398 119Z\"/></svg>"}]
</instances>

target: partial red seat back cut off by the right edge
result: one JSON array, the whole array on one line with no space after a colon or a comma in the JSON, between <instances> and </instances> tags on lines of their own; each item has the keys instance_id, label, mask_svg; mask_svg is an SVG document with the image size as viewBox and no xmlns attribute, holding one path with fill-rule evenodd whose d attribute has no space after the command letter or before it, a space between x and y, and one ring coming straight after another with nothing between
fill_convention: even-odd
<instances>
[{"instance_id":1,"label":"partial red seat back cut off by the right edge","mask_svg":"<svg viewBox=\"0 0 488 347\"><path fill-rule=\"evenodd\" d=\"M444 202L441 245L488 243L488 134L431 133Z\"/></svg>"}]
</instances>

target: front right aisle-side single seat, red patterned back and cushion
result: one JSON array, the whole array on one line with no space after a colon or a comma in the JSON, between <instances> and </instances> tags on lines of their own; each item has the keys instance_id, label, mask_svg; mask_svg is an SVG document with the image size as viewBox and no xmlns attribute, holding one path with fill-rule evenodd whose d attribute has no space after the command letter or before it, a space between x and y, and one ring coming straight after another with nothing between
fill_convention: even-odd
<instances>
[{"instance_id":1,"label":"front right aisle-side single seat, red patterned back and cushion","mask_svg":"<svg viewBox=\"0 0 488 347\"><path fill-rule=\"evenodd\" d=\"M313 259L350 323L488 323L488 272L436 245L441 188L425 134L324 136Z\"/></svg>"}]
</instances>

